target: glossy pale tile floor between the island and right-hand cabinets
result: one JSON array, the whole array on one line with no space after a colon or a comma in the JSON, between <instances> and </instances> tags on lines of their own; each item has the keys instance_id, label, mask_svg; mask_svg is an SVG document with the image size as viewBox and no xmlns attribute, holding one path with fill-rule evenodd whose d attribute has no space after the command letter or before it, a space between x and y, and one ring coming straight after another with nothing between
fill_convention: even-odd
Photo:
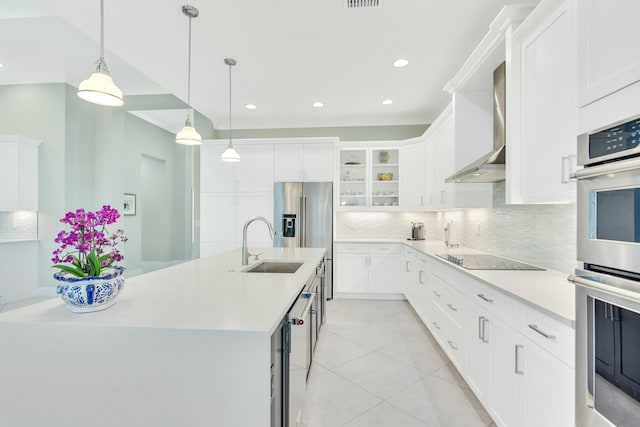
<instances>
[{"instance_id":1,"label":"glossy pale tile floor between the island and right-hand cabinets","mask_svg":"<svg viewBox=\"0 0 640 427\"><path fill-rule=\"evenodd\" d=\"M406 301L327 302L305 427L495 424Z\"/></svg>"}]
</instances>

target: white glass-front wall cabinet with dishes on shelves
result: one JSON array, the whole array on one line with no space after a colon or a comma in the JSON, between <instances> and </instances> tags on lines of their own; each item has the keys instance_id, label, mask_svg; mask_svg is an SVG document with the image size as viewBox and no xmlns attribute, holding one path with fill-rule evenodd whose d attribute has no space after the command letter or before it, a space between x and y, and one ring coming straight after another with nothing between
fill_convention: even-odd
<instances>
[{"instance_id":1,"label":"white glass-front wall cabinet with dishes on shelves","mask_svg":"<svg viewBox=\"0 0 640 427\"><path fill-rule=\"evenodd\" d=\"M339 206L399 209L400 149L342 148L339 150Z\"/></svg>"}]
</instances>

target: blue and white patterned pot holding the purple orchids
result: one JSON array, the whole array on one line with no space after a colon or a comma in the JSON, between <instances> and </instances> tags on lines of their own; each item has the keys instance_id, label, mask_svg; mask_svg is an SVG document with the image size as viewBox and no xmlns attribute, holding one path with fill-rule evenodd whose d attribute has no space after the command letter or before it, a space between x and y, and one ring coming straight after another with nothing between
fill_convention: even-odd
<instances>
[{"instance_id":1,"label":"blue and white patterned pot holding the purple orchids","mask_svg":"<svg viewBox=\"0 0 640 427\"><path fill-rule=\"evenodd\" d=\"M116 303L124 286L124 268L109 267L104 274L93 277L76 277L60 271L53 275L63 282L58 285L58 295L74 313L89 313L104 310Z\"/></svg>"}]
</instances>

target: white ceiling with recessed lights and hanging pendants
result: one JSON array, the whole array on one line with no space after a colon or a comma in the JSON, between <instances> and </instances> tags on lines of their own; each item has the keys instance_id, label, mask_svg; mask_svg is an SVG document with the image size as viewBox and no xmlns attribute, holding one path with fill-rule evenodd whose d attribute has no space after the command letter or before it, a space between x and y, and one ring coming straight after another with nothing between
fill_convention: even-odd
<instances>
[{"instance_id":1,"label":"white ceiling with recessed lights and hanging pendants","mask_svg":"<svg viewBox=\"0 0 640 427\"><path fill-rule=\"evenodd\" d=\"M505 4L538 0L105 0L105 59L127 95L187 100L217 129L430 123L443 90ZM77 86L98 56L98 0L0 0L0 84ZM406 58L404 68L392 66ZM392 99L391 105L382 100ZM314 108L316 101L323 108ZM255 104L255 110L244 108ZM183 120L184 114L174 111ZM161 114L159 114L161 115ZM166 115L166 114L165 114Z\"/></svg>"}]
</instances>

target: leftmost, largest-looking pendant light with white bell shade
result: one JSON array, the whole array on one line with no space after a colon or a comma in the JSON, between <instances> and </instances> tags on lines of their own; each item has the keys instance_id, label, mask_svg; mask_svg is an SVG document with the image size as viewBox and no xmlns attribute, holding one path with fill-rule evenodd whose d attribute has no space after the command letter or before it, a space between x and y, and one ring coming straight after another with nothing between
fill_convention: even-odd
<instances>
[{"instance_id":1,"label":"leftmost, largest-looking pendant light with white bell shade","mask_svg":"<svg viewBox=\"0 0 640 427\"><path fill-rule=\"evenodd\" d=\"M109 107L124 104L122 91L113 83L104 61L104 0L100 0L100 58L96 63L96 71L78 86L78 96L85 101Z\"/></svg>"}]
</instances>

